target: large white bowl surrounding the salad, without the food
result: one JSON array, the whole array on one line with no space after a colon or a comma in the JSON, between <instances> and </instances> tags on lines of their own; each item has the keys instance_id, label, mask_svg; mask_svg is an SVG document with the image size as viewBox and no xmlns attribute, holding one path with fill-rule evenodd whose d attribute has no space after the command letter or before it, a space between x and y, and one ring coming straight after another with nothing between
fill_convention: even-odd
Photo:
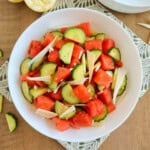
<instances>
[{"instance_id":1,"label":"large white bowl surrounding the salad, without the food","mask_svg":"<svg viewBox=\"0 0 150 150\"><path fill-rule=\"evenodd\" d=\"M127 91L123 101L116 111L105 119L102 127L82 128L80 130L69 129L65 132L59 132L50 120L43 119L35 114L34 108L24 99L20 89L19 68L31 40L40 39L51 28L62 25L75 25L85 21L89 21L95 31L104 32L108 37L113 38L116 41L116 45L121 49L122 60L128 71ZM117 129L129 117L136 106L141 83L140 57L130 36L114 20L98 11L84 8L70 8L50 12L36 20L22 33L13 48L9 60L8 84L13 103L18 112L38 132L50 138L64 141L90 141Z\"/></svg>"}]
</instances>

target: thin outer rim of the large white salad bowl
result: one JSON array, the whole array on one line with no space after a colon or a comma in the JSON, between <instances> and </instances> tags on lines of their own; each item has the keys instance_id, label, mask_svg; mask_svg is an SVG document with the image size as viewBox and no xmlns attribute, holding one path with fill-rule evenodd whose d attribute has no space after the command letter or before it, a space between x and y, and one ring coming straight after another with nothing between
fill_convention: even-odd
<instances>
[{"instance_id":1,"label":"thin outer rim of the large white salad bowl","mask_svg":"<svg viewBox=\"0 0 150 150\"><path fill-rule=\"evenodd\" d=\"M98 15L102 15L102 16L104 16L104 17L110 19L111 21L113 21L113 22L117 25L117 27L123 29L123 32L125 32L126 36L127 36L127 37L130 39L130 41L132 42L132 45L133 45L134 49L136 50L137 56L138 56L138 58L139 58L139 65L140 65L139 70L140 70L140 73L141 73L141 76L140 76L140 77L141 77L141 80L139 81L139 85L140 85L139 89L141 89L143 73L142 73L142 64L141 64L141 61L140 61L140 56L139 56L137 47L135 46L134 42L132 41L132 39L131 39L129 33L128 33L126 30L124 30L124 28L123 28L118 22L116 22L115 20L113 20L113 19L110 18L109 16L106 16L104 13L102 13L102 12L100 12L100 11L92 10L92 9L89 9L89 8L64 8L64 9L56 10L56 11L53 11L53 12L49 12L49 13L45 14L44 16L41 16L41 17L39 17L38 19L36 19L33 23L31 23L31 24L22 32L22 34L20 35L20 37L24 34L24 32L26 32L26 30L28 30L28 28L29 28L30 26L32 26L33 24L38 23L38 22L41 20L42 17L46 17L46 16L50 15L50 13L57 13L57 12L64 12L64 11L78 11L78 10L80 10L80 11L90 11L90 12L92 12L92 13L97 13ZM18 38L18 40L20 39L20 37ZM9 82L9 81L10 81L10 77L11 77L11 76L10 76L10 70L11 70L10 68L11 68L11 61L12 61L12 60L11 60L11 56L12 56L12 54L13 54L15 48L16 48L16 45L17 45L17 43L18 43L18 40L16 41L16 43L15 43L15 45L14 45L14 47L13 47L12 53L11 53L11 55L10 55L10 60L9 60L9 63L8 63L8 86L9 86L9 88L10 88L10 95L11 95L11 97L13 97L13 92L12 92L12 90L11 90L11 83ZM134 105L132 106L132 108L130 109L130 111L128 112L128 115L126 115L126 117L125 117L122 121L120 121L120 123L119 123L116 127L110 129L109 131L106 131L105 134L103 134L103 135L101 135L101 136L95 137L95 139L96 139L96 138L103 137L103 136L106 136L106 135L109 135L111 132L113 132L113 131L116 130L118 127L120 127L120 126L127 120L127 118L131 115L132 111L134 110L134 108L135 108L135 106L136 106L136 104L137 104L137 102L138 102L138 97L139 97L139 95L140 95L140 90L138 91L138 95L137 95L136 101L135 101ZM15 102L14 102L13 98L12 98L12 101L13 101L13 103L14 103L14 105L15 105ZM21 117L22 117L32 128L34 128L36 131L38 131L38 132L41 133L42 135L45 135L45 136L47 136L47 137L49 137L49 138L53 138L53 139L56 139L56 140L63 140L63 139L58 139L58 138L56 138L56 137L50 137L48 134L43 133L42 131L39 131L38 129L36 129L36 127L34 127L31 122L29 122L28 120L26 120L25 116L23 116L22 112L20 111L20 109L19 109L16 105L15 105L15 107L16 107L17 111L19 112L19 114L21 115ZM79 141L78 141L78 140L71 140L70 142L87 142L87 141L91 141L91 140L95 140L95 139L93 139L93 138L91 139L91 138L89 137L89 138L86 139L86 140L85 140L85 139L79 140Z\"/></svg>"}]
</instances>

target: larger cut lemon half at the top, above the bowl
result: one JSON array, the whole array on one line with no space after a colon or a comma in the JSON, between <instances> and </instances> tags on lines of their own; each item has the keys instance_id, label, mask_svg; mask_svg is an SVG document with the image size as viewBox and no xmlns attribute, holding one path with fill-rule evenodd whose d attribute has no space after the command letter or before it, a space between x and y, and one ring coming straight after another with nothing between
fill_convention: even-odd
<instances>
[{"instance_id":1,"label":"larger cut lemon half at the top, above the bowl","mask_svg":"<svg viewBox=\"0 0 150 150\"><path fill-rule=\"evenodd\" d=\"M56 0L24 0L24 2L33 11L46 12L54 7Z\"/></svg>"}]
</instances>

